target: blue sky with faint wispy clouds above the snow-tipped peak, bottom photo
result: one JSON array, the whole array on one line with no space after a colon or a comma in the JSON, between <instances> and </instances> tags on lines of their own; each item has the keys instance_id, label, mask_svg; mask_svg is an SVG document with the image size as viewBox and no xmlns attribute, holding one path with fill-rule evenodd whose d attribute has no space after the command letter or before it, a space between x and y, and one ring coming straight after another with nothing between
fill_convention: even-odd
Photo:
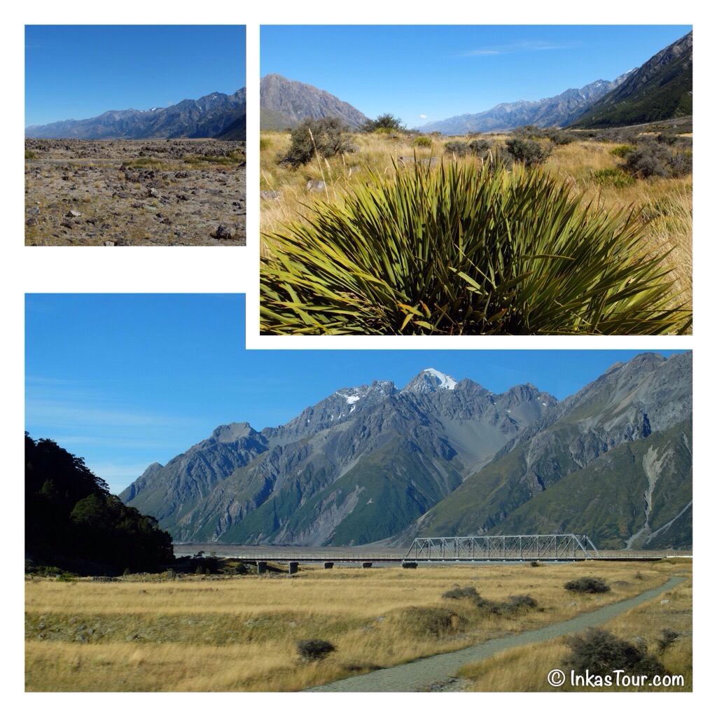
<instances>
[{"instance_id":1,"label":"blue sky with faint wispy clouds above the snow-tipped peak, bottom photo","mask_svg":"<svg viewBox=\"0 0 717 717\"><path fill-rule=\"evenodd\" d=\"M422 369L563 399L639 351L244 349L243 295L28 294L25 429L115 492L218 425L288 422L338 389ZM664 355L670 352L662 352Z\"/></svg>"}]
</instances>

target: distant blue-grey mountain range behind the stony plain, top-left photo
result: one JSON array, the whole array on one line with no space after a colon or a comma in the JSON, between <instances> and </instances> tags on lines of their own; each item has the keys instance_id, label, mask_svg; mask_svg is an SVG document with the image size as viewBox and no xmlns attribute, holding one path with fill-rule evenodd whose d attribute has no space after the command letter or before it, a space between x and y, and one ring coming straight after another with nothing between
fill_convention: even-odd
<instances>
[{"instance_id":1,"label":"distant blue-grey mountain range behind the stony plain, top-left photo","mask_svg":"<svg viewBox=\"0 0 717 717\"><path fill-rule=\"evenodd\" d=\"M247 91L212 92L151 110L110 110L87 120L25 128L26 137L62 139L216 138L245 141Z\"/></svg>"}]
</instances>

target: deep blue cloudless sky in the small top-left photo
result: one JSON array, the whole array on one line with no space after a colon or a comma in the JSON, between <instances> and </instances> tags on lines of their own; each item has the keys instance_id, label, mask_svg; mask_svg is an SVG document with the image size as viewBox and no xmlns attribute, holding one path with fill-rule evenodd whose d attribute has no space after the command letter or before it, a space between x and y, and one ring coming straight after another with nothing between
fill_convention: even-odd
<instances>
[{"instance_id":1,"label":"deep blue cloudless sky in the small top-left photo","mask_svg":"<svg viewBox=\"0 0 717 717\"><path fill-rule=\"evenodd\" d=\"M27 25L25 126L246 86L241 25Z\"/></svg>"}]
</instances>

